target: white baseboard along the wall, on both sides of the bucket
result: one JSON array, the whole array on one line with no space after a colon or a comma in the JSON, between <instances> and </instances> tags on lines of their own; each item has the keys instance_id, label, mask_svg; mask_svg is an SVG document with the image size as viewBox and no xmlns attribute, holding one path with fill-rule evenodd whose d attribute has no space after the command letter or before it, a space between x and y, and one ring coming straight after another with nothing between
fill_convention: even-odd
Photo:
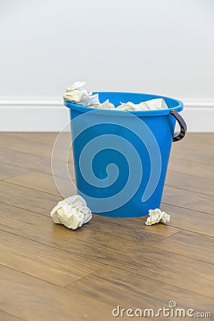
<instances>
[{"instance_id":1,"label":"white baseboard along the wall, on both sides of the bucket","mask_svg":"<svg viewBox=\"0 0 214 321\"><path fill-rule=\"evenodd\" d=\"M214 132L214 101L183 99L183 102L181 116L189 132ZM0 99L0 131L58 132L68 121L68 108L63 106L63 100Z\"/></svg>"}]
</instances>

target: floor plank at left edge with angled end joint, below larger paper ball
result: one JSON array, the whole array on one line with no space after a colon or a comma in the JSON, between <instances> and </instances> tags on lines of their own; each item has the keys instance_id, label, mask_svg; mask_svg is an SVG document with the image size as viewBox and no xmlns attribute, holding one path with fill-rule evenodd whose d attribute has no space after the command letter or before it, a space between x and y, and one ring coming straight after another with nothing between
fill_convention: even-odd
<instances>
[{"instance_id":1,"label":"floor plank at left edge with angled end joint, below larger paper ball","mask_svg":"<svg viewBox=\"0 0 214 321\"><path fill-rule=\"evenodd\" d=\"M1 265L64 286L98 270L90 260L0 231ZM13 244L13 246L11 246ZM91 263L93 265L93 263Z\"/></svg>"}]
</instances>

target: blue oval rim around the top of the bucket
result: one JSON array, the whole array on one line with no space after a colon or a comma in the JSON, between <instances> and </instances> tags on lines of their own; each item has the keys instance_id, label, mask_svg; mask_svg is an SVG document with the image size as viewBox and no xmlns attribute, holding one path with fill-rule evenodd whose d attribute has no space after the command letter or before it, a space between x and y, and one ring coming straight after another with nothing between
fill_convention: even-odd
<instances>
[{"instance_id":1,"label":"blue oval rim around the top of the bucket","mask_svg":"<svg viewBox=\"0 0 214 321\"><path fill-rule=\"evenodd\" d=\"M171 108L165 108L165 109L155 109L152 111L120 111L120 110L116 110L117 111L117 115L118 113L121 113L121 116L124 115L124 113L127 115L127 113L131 113L133 115L136 116L161 116L161 115L168 115L170 114L171 110L175 110L175 111L182 111L183 110L183 102L179 101L178 99L169 97L169 96L162 96L162 95L156 95L153 93L136 93L136 92L128 92L128 91L93 91L93 93L105 93L108 94L109 93L109 101L111 102L111 94L131 94L131 95L142 95L142 96L151 96L151 99L155 99L155 98L163 98L164 100L170 100L173 101L173 103L176 103L175 107L171 107ZM146 99L146 100L151 100L151 99ZM143 101L143 100L142 100ZM66 99L63 99L63 103L64 106L73 109L75 111L81 111L81 112L87 112L87 111L103 111L108 113L108 115L112 115L113 116L113 110L112 109L101 109L101 108L96 108L96 107L87 107L87 106L83 106L83 105L78 105L77 103L71 103L71 101L66 101ZM103 113L104 114L104 113Z\"/></svg>"}]
</instances>

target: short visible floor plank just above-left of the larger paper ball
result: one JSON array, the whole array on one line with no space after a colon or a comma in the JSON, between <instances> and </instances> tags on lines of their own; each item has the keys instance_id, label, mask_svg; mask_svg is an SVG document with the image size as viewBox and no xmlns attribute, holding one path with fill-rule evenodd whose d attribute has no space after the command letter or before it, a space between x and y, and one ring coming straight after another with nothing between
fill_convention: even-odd
<instances>
[{"instance_id":1,"label":"short visible floor plank just above-left of the larger paper ball","mask_svg":"<svg viewBox=\"0 0 214 321\"><path fill-rule=\"evenodd\" d=\"M72 176L74 181L74 173ZM53 175L35 171L27 173L27 175L16 176L6 181L9 183L24 186L26 188L34 188L35 190L41 190L42 192L51 193L59 196L61 195L59 191L62 191L61 186L63 186L64 198L76 194L76 188L71 184L71 180L59 177L55 179L59 190L56 188Z\"/></svg>"}]
</instances>

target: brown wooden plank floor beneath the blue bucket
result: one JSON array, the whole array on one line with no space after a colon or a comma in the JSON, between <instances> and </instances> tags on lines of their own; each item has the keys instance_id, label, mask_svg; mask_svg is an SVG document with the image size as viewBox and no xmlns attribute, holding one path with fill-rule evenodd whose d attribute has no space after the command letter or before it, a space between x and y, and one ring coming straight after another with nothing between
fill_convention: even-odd
<instances>
[{"instance_id":1,"label":"brown wooden plank floor beneath the blue bucket","mask_svg":"<svg viewBox=\"0 0 214 321\"><path fill-rule=\"evenodd\" d=\"M61 200L51 176L55 139L0 134L0 320L115 320L117 305L158 310L170 300L213 312L214 136L173 143L161 207L169 225L94 215L76 231L50 218Z\"/></svg>"}]
</instances>

